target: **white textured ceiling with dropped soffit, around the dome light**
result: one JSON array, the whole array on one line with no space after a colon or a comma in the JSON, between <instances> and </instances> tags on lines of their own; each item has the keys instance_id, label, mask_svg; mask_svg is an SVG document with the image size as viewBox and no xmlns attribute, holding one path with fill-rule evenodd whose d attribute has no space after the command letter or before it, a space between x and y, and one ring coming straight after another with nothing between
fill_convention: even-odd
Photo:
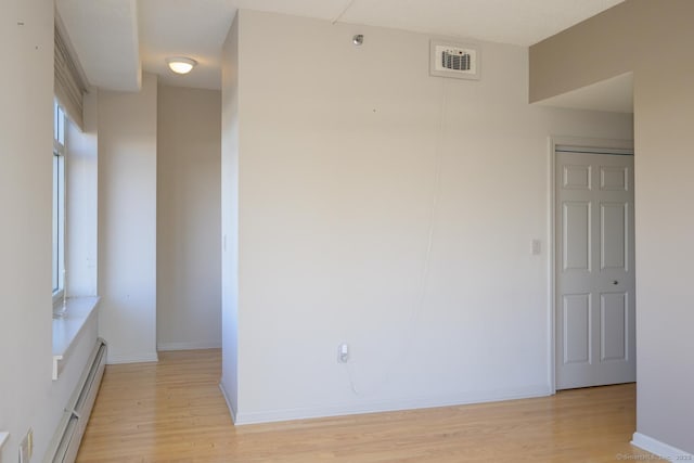
<instances>
[{"instance_id":1,"label":"white textured ceiling with dropped soffit, around the dome light","mask_svg":"<svg viewBox=\"0 0 694 463\"><path fill-rule=\"evenodd\" d=\"M136 90L142 70L169 85L218 89L220 52L237 9L437 36L530 46L622 0L56 0L93 86ZM165 57L200 65L188 76Z\"/></svg>"}]
</instances>

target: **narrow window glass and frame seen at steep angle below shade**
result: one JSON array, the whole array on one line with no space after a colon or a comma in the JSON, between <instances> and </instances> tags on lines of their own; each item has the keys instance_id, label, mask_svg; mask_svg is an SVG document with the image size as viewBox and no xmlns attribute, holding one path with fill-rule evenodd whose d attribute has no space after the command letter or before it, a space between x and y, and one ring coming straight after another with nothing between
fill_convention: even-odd
<instances>
[{"instance_id":1,"label":"narrow window glass and frame seen at steep angle below shade","mask_svg":"<svg viewBox=\"0 0 694 463\"><path fill-rule=\"evenodd\" d=\"M65 294L65 113L53 113L53 303Z\"/></svg>"}]
</instances>

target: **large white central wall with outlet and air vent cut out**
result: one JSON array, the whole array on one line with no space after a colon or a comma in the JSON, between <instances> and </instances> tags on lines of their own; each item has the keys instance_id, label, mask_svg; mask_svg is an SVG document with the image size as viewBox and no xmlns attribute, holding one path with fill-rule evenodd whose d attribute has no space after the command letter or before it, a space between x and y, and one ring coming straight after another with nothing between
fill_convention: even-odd
<instances>
[{"instance_id":1,"label":"large white central wall with outlet and air vent cut out","mask_svg":"<svg viewBox=\"0 0 694 463\"><path fill-rule=\"evenodd\" d=\"M529 106L519 47L480 43L466 81L428 76L421 34L239 30L236 422L549 394L548 137L629 139L631 117Z\"/></svg>"}]
</instances>

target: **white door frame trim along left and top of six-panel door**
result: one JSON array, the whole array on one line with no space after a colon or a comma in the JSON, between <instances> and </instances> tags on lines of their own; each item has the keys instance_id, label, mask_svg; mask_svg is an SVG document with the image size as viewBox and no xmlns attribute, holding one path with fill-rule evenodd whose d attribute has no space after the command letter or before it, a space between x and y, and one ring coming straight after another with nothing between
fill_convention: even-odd
<instances>
[{"instance_id":1,"label":"white door frame trim along left and top of six-panel door","mask_svg":"<svg viewBox=\"0 0 694 463\"><path fill-rule=\"evenodd\" d=\"M617 140L617 139L596 139L584 137L568 137L568 136L550 136L548 138L548 208L549 208L549 230L548 230L548 254L549 263L548 272L550 275L550 284L548 285L548 307L549 307L549 384L550 394L556 394L556 146L557 145L570 145L576 147L586 149L604 149L604 150L632 150L633 140ZM635 156L635 153L634 153ZM635 160L635 157L634 157ZM634 180L635 183L635 180ZM635 184L634 184L635 187ZM635 209L635 207L634 207ZM634 244L635 245L635 244ZM635 252L634 252L635 254Z\"/></svg>"}]
</instances>

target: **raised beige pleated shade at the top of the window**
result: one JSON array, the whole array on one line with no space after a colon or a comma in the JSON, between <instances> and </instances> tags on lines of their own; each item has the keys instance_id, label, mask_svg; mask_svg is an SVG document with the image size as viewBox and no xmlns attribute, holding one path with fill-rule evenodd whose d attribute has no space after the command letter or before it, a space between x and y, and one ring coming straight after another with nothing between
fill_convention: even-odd
<instances>
[{"instance_id":1,"label":"raised beige pleated shade at the top of the window","mask_svg":"<svg viewBox=\"0 0 694 463\"><path fill-rule=\"evenodd\" d=\"M55 80L53 91L55 98L65 110L67 117L82 130L82 95L87 91L87 85L81 77L78 64L69 53L67 41L57 26L55 26L54 48Z\"/></svg>"}]
</instances>

